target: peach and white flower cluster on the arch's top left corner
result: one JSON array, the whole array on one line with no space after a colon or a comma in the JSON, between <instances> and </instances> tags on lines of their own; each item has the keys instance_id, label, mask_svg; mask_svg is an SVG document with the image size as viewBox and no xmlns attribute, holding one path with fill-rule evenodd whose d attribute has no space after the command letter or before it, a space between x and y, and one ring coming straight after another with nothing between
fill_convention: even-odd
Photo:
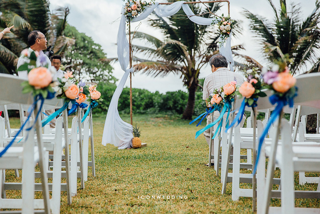
<instances>
[{"instance_id":1,"label":"peach and white flower cluster on the arch's top left corner","mask_svg":"<svg viewBox=\"0 0 320 214\"><path fill-rule=\"evenodd\" d=\"M127 20L131 20L132 18L138 17L140 13L144 11L144 9L151 4L154 3L154 0L147 3L146 1L140 0L124 0L126 3L124 4L124 15L127 17Z\"/></svg>"}]
</instances>

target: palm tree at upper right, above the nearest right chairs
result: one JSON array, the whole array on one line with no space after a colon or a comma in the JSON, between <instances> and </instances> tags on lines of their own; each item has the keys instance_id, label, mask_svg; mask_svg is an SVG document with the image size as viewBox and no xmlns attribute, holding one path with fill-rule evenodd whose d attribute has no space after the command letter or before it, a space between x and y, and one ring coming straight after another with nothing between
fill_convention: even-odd
<instances>
[{"instance_id":1,"label":"palm tree at upper right, above the nearest right chairs","mask_svg":"<svg viewBox=\"0 0 320 214\"><path fill-rule=\"evenodd\" d=\"M251 30L263 45L265 57L273 62L279 57L289 57L292 62L289 69L292 73L318 72L320 64L320 1L316 1L313 12L303 20L301 7L292 3L288 8L285 0L280 0L281 8L277 10L271 0L268 0L275 20L268 21L260 15L244 11L248 18ZM312 64L308 71L307 65Z\"/></svg>"}]
</instances>

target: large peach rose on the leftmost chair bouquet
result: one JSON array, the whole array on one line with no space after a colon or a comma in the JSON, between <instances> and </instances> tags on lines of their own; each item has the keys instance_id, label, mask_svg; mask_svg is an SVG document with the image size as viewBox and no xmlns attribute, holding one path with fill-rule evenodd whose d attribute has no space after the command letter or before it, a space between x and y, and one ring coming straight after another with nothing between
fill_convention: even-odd
<instances>
[{"instance_id":1,"label":"large peach rose on the leftmost chair bouquet","mask_svg":"<svg viewBox=\"0 0 320 214\"><path fill-rule=\"evenodd\" d=\"M47 87L52 82L52 75L47 68L34 68L28 73L29 84L36 89Z\"/></svg>"}]
</instances>

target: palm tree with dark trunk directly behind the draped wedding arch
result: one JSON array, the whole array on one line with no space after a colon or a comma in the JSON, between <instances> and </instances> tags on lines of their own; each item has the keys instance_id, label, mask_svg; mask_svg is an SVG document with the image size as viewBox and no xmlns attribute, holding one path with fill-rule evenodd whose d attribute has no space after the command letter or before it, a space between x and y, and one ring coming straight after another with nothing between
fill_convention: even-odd
<instances>
[{"instance_id":1,"label":"palm tree with dark trunk directly behind the draped wedding arch","mask_svg":"<svg viewBox=\"0 0 320 214\"><path fill-rule=\"evenodd\" d=\"M173 2L171 0L169 2ZM195 14L204 14L207 8L202 4L190 4ZM219 4L209 4L212 13L219 10ZM203 17L209 18L211 14ZM164 19L154 15L149 20L152 27L160 29L164 40L157 39L142 32L136 32L133 38L144 39L148 46L133 45L133 50L142 52L148 59L133 57L139 62L133 65L135 71L141 71L153 76L164 76L168 73L179 74L188 88L188 102L182 118L191 119L195 105L195 92L198 88L200 69L209 61L210 57L219 53L217 40L219 34L214 26L198 25L190 21L183 10ZM233 49L241 46L233 47Z\"/></svg>"}]
</instances>

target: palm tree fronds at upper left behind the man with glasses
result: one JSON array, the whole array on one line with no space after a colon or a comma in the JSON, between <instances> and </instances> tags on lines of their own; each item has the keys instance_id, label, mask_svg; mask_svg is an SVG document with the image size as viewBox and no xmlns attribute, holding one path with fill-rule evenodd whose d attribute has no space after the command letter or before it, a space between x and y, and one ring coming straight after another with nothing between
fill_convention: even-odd
<instances>
[{"instance_id":1,"label":"palm tree fronds at upper left behind the man with glasses","mask_svg":"<svg viewBox=\"0 0 320 214\"><path fill-rule=\"evenodd\" d=\"M50 14L46 0L0 0L0 30L14 25L12 33L6 34L0 44L0 73L16 72L17 58L28 47L28 34L40 30L48 38L56 54L60 54L74 43L73 39L62 37L66 25L68 8L59 8Z\"/></svg>"}]
</instances>

